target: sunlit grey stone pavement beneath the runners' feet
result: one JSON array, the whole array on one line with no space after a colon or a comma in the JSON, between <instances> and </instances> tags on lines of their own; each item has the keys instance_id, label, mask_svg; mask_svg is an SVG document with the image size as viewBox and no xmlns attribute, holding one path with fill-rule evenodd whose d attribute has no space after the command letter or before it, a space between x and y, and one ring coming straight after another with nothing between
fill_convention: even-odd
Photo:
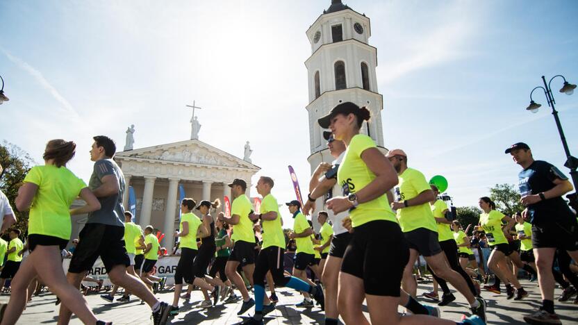
<instances>
[{"instance_id":1,"label":"sunlit grey stone pavement beneath the runners' feet","mask_svg":"<svg viewBox=\"0 0 578 325\"><path fill-rule=\"evenodd\" d=\"M488 301L488 324L525 324L522 315L538 308L540 293L537 283L523 280L521 282L529 292L529 297L522 301L507 300L504 293L497 295L487 291L482 292L482 296ZM422 292L429 290L431 290L431 283L420 283L418 294L421 295ZM558 297L561 289L556 288L555 293ZM295 303L302 301L301 295L287 288L279 288L277 296L279 297L277 309L265 317L266 324L322 324L323 314L320 313L319 308L295 307ZM157 297L163 301L172 301L172 292L160 292ZM442 317L459 321L463 313L467 312L465 299L460 294L456 294L456 298L454 303L441 308ZM8 299L8 296L0 296L2 302ZM56 324L58 307L54 306L55 299L55 296L46 293L33 297L17 324ZM150 308L147 305L140 305L138 300L129 303L107 303L98 294L89 294L86 299L99 318L111 321L113 324L152 324L149 319ZM171 324L236 324L243 319L236 315L240 302L219 303L216 307L205 310L197 307L201 300L201 292L193 291L190 303L185 303L184 307L181 306L181 313L171 320ZM420 301L427 301L427 299L420 298ZM183 303L182 299L181 303ZM364 310L367 312L367 308ZM402 308L399 310L402 311ZM563 324L578 324L578 305L556 301L556 313L561 317ZM252 314L253 310L250 310L243 317ZM81 324L81 322L73 318L70 324Z\"/></svg>"}]
</instances>

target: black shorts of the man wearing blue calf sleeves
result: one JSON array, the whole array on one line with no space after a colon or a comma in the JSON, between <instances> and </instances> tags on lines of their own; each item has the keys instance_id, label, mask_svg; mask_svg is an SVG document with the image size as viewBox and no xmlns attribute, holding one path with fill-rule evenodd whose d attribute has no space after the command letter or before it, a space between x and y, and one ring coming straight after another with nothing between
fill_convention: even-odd
<instances>
[{"instance_id":1,"label":"black shorts of the man wearing blue calf sleeves","mask_svg":"<svg viewBox=\"0 0 578 325\"><path fill-rule=\"evenodd\" d=\"M283 274L284 253L284 249L276 246L261 249L255 263L255 271L253 272L253 283L255 285L264 287L265 275L267 275L269 271L271 271L275 285L279 285L280 287L287 285L291 277Z\"/></svg>"}]
</instances>

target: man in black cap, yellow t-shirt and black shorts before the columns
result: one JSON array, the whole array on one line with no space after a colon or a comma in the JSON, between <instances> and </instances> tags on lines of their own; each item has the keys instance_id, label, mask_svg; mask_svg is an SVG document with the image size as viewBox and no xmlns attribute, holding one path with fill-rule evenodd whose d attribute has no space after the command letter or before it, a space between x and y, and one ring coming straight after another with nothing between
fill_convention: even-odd
<instances>
[{"instance_id":1,"label":"man in black cap, yellow t-shirt and black shorts before the columns","mask_svg":"<svg viewBox=\"0 0 578 325\"><path fill-rule=\"evenodd\" d=\"M243 278L237 272L237 267L242 267L249 283L253 281L253 271L255 269L255 236L253 233L253 222L249 219L249 213L253 205L245 194L247 183L240 178L235 178L229 184L231 195L235 197L231 204L231 217L226 217L224 213L219 213L218 218L227 224L233 225L234 244L229 260L225 265L226 277L231 280L236 288L241 292L243 303L237 315L244 314L249 308L255 305L255 301L249 297L249 292L245 287Z\"/></svg>"}]
</instances>

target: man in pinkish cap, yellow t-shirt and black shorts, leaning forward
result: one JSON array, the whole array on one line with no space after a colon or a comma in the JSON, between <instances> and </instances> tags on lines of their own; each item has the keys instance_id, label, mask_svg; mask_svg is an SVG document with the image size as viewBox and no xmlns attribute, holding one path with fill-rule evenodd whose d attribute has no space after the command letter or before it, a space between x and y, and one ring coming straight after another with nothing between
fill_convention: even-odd
<instances>
[{"instance_id":1,"label":"man in pinkish cap, yellow t-shirt and black shorts, leaning forward","mask_svg":"<svg viewBox=\"0 0 578 325\"><path fill-rule=\"evenodd\" d=\"M472 313L481 317L485 322L486 301L481 297L476 297L470 277L463 272L459 263L456 267L458 271L452 268L440 247L436 219L434 219L429 206L429 202L436 199L436 195L431 190L424 175L416 169L407 167L407 155L401 149L389 151L386 158L393 164L399 177L399 187L396 189L397 201L391 203L391 207L397 211L399 225L410 246L410 258L404 269L402 288L412 297L415 297L418 283L415 283L412 271L415 260L421 254L433 273L438 278L452 283L454 288L463 294L468 301ZM455 247L449 255L454 260Z\"/></svg>"}]
</instances>

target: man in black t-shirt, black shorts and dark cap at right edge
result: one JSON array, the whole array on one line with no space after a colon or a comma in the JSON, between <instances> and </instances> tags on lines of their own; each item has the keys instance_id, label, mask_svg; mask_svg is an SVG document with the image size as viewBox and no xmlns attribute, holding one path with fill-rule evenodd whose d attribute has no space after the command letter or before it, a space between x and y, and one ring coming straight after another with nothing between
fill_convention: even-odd
<instances>
[{"instance_id":1,"label":"man in black t-shirt, black shorts and dark cap at right edge","mask_svg":"<svg viewBox=\"0 0 578 325\"><path fill-rule=\"evenodd\" d=\"M557 249L568 251L578 260L578 222L562 196L572 191L572 184L559 169L542 160L534 160L530 147L523 142L506 149L523 170L518 174L520 202L532 224L532 244L542 307L524 320L530 324L561 324L554 313L554 276L552 263Z\"/></svg>"}]
</instances>

